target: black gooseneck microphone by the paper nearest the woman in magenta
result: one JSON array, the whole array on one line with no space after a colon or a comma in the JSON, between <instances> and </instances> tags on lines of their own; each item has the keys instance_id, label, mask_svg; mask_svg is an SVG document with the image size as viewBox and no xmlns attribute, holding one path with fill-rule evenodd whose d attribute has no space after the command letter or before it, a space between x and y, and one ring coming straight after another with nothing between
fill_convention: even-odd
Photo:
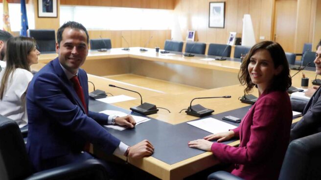
<instances>
[{"instance_id":1,"label":"black gooseneck microphone by the paper nearest the woman in magenta","mask_svg":"<svg viewBox=\"0 0 321 180\"><path fill-rule=\"evenodd\" d=\"M203 117L206 115L210 115L212 114L212 112L214 112L214 110L211 109L207 109L203 106L201 106L200 104L194 105L192 106L192 102L195 99L209 99L209 98L230 98L230 95L226 95L226 96L218 96L218 97L196 97L194 99L191 100L189 107L187 108L187 110L185 111L188 115L193 115L196 117Z\"/></svg>"}]
</instances>

